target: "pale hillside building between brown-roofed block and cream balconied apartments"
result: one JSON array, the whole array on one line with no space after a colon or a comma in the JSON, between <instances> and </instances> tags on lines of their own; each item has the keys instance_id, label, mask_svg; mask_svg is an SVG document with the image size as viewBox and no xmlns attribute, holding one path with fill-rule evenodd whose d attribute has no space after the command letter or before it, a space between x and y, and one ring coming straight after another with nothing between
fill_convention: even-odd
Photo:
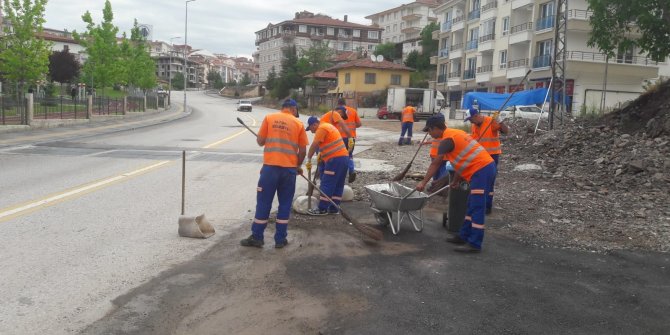
<instances>
[{"instance_id":1,"label":"pale hillside building between brown-roofed block and cream balconied apartments","mask_svg":"<svg viewBox=\"0 0 670 335\"><path fill-rule=\"evenodd\" d=\"M419 40L421 30L430 22L437 22L433 9L439 5L438 0L417 0L403 4L365 18L372 25L383 28L382 43L402 43L402 57L416 50L421 51Z\"/></svg>"}]
</instances>

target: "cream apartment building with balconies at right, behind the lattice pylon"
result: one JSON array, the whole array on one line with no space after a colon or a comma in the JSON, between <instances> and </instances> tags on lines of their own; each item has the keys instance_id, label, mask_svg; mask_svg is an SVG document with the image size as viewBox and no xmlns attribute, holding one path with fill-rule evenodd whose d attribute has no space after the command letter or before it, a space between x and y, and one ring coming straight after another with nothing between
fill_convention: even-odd
<instances>
[{"instance_id":1,"label":"cream apartment building with balconies at right, behind the lattice pylon","mask_svg":"<svg viewBox=\"0 0 670 335\"><path fill-rule=\"evenodd\" d=\"M585 0L569 1L566 36L566 95L570 111L599 107L607 72L606 105L615 106L642 92L642 82L657 78L664 63L639 50L615 58L587 46L591 31ZM548 0L449 0L435 8L440 29L432 87L445 92L454 108L470 91L513 92L548 87L554 51L556 2ZM559 59L560 60L560 59ZM606 69L607 68L607 69ZM528 70L529 81L518 85Z\"/></svg>"}]
</instances>

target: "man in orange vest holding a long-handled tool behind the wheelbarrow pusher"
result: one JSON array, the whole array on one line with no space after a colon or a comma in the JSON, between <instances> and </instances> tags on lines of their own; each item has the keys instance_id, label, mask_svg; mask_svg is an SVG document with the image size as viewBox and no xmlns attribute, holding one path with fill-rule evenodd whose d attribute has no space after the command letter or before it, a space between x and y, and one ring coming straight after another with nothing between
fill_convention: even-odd
<instances>
[{"instance_id":1,"label":"man in orange vest holding a long-handled tool behind the wheelbarrow pusher","mask_svg":"<svg viewBox=\"0 0 670 335\"><path fill-rule=\"evenodd\" d=\"M493 158L493 161L496 163L497 170L498 160L502 153L500 133L509 133L509 127L503 122L504 119L502 119L500 114L496 115L496 118L494 119L493 117L482 115L479 113L479 110L475 108L470 108L468 115L466 116L465 121L470 121L472 124L470 126L470 134L486 149L486 152L491 155L491 158ZM496 183L495 177L496 176L493 176L491 191L486 198L486 214L491 214L491 210L493 209L493 193Z\"/></svg>"}]
</instances>

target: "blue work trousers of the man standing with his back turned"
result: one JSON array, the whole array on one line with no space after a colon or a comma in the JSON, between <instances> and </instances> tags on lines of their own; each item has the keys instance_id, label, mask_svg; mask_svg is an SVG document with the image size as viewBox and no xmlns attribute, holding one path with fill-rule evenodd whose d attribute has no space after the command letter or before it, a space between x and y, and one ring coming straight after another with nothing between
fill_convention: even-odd
<instances>
[{"instance_id":1,"label":"blue work trousers of the man standing with his back turned","mask_svg":"<svg viewBox=\"0 0 670 335\"><path fill-rule=\"evenodd\" d=\"M261 176L258 179L256 189L256 214L254 223L251 225L251 233L254 239L262 241L263 232L270 217L272 201L275 193L279 200L277 211L275 243L286 240L288 220L291 214L291 203L295 194L296 168L287 168L274 165L263 165Z\"/></svg>"}]
</instances>

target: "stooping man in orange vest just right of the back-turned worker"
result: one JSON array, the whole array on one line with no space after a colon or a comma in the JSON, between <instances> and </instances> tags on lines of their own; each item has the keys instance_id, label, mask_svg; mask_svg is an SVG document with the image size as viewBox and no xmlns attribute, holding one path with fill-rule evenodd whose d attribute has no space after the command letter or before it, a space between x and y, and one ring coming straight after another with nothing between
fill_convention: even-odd
<instances>
[{"instance_id":1,"label":"stooping man in orange vest just right of the back-turned worker","mask_svg":"<svg viewBox=\"0 0 670 335\"><path fill-rule=\"evenodd\" d=\"M321 191L339 205L344 192L344 179L347 176L349 151L342 142L340 132L332 124L320 122L316 116L310 116L307 120L307 130L314 133L314 139L307 152L305 166L307 169L312 168L312 156L318 149L324 164L323 174L321 175ZM322 194L319 207L310 208L307 213L310 215L327 215L338 214L339 211Z\"/></svg>"}]
</instances>

